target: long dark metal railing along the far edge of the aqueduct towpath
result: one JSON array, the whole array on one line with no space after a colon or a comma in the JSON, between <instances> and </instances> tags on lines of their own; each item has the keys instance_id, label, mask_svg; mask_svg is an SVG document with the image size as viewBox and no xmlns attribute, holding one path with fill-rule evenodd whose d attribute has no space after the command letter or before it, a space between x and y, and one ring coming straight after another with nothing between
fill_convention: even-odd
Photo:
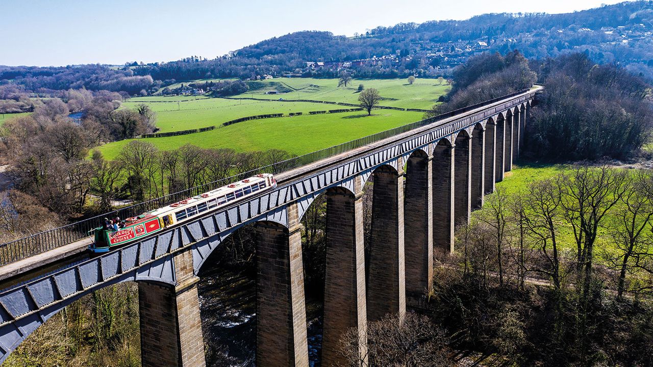
<instances>
[{"instance_id":1,"label":"long dark metal railing along the far edge of the aqueduct towpath","mask_svg":"<svg viewBox=\"0 0 653 367\"><path fill-rule=\"evenodd\" d=\"M430 125L431 123L434 123L438 120L445 120L447 118L451 118L458 114L464 114L465 112L475 110L476 108L486 106L488 104L497 103L498 101L502 101L503 99L508 99L520 94L527 93L528 91L529 91L528 89L524 89L522 91L511 93L509 95L504 95L502 97L491 99L483 103L478 103L472 106L459 108L458 110L453 110L451 112L439 114L438 116L434 116L432 118L427 118L421 121L409 123L407 125L402 125L400 127L395 127L394 129L381 131L380 133L364 136L362 138L351 140L343 144L338 144L330 148L325 148L322 150L318 150L316 152L300 155L298 157L287 159L285 161L274 163L272 165L268 165L265 167L255 168L254 170L242 172L240 174L236 174L228 178L223 178L221 180L217 180L214 182L205 183L203 185L178 191L176 193L168 194L163 197L151 199L145 202L140 202L138 204L127 206L125 208L120 208L118 210L114 210L113 212L96 215L95 217L84 219L76 223L71 223L63 227L50 229L48 231L33 234L31 236L20 238L12 242L7 242L6 244L0 245L0 266L8 263L13 263L15 261L19 261L21 259L25 259L33 255L38 255L39 253L43 253L45 251L54 249L56 247L65 246L67 244L72 244L73 242L82 240L86 238L88 231L91 231L91 229L94 229L98 227L101 223L104 223L103 219L105 217L106 218L133 217L135 215L139 215L144 212L148 212L156 208L161 208L163 206L170 205L174 202L178 202L180 200L187 199L189 197L193 197L201 193L205 193L206 191L217 189L218 187L228 185L229 183L243 180L244 178L254 176L256 174L260 174L260 173L279 174L281 172L286 172L287 170L291 170L293 168L302 167L304 165L308 165L309 163L320 161L321 159L332 157L334 155L338 155L340 153L353 150L355 148L360 148L362 146L372 144L379 140L389 138L390 136L399 135L402 133L406 133L407 131L417 129L419 127Z\"/></svg>"}]
</instances>

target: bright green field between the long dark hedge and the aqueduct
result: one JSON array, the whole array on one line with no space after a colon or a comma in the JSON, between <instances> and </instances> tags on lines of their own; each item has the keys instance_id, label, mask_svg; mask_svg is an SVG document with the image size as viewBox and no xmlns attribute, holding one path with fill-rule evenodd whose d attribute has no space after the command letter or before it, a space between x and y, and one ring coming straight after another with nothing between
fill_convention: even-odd
<instances>
[{"instance_id":1,"label":"bright green field between the long dark hedge and the aqueduct","mask_svg":"<svg viewBox=\"0 0 653 367\"><path fill-rule=\"evenodd\" d=\"M395 110L375 110L372 116L362 112L304 115L244 121L204 133L138 140L154 144L161 150L172 150L190 143L202 148L233 148L238 152L275 148L300 155L421 118L421 112ZM106 158L113 159L130 141L121 140L98 149Z\"/></svg>"}]
</instances>

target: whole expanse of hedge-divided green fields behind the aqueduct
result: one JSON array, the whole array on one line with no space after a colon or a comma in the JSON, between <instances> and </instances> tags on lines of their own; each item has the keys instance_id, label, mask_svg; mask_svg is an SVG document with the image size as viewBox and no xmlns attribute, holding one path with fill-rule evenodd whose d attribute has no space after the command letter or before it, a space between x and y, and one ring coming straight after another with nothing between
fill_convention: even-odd
<instances>
[{"instance_id":1,"label":"whole expanse of hedge-divided green fields behind the aqueduct","mask_svg":"<svg viewBox=\"0 0 653 367\"><path fill-rule=\"evenodd\" d=\"M334 104L289 102L279 99L312 99L342 103L358 103L358 84L365 88L377 88L383 97L381 105L402 108L430 108L438 97L447 93L449 86L438 86L433 79L417 79L408 85L405 79L353 80L347 88L338 88L337 79L276 78L248 81L250 90L234 97L254 97L270 101L248 99L208 98L205 96L135 97L124 103L134 108L146 103L157 113L157 127L165 133L219 126L222 123L259 114L303 112L294 118L271 118L246 121L205 133L148 138L162 150L172 150L191 143L202 148L231 147L240 152L277 148L294 154L313 152L362 136L378 133L422 119L422 112L375 110L366 117L360 112L306 115L310 111L351 108ZM278 95L266 95L266 91L287 91ZM99 149L108 158L118 155L129 140L113 142Z\"/></svg>"}]
</instances>

